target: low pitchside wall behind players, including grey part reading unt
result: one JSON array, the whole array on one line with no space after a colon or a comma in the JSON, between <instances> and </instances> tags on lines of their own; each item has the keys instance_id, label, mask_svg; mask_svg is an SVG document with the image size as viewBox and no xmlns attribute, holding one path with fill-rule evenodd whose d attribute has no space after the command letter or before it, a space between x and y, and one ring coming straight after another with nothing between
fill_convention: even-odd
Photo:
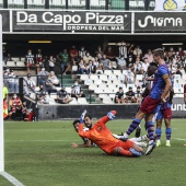
<instances>
[{"instance_id":1,"label":"low pitchside wall behind players, including grey part reading unt","mask_svg":"<svg viewBox=\"0 0 186 186\"><path fill-rule=\"evenodd\" d=\"M81 113L86 109L93 118L100 118L112 109L117 111L117 119L131 119L135 117L138 104L128 105L38 105L39 120L55 119L74 119L79 118ZM186 105L183 97L173 100L173 118L186 117Z\"/></svg>"}]
</instances>

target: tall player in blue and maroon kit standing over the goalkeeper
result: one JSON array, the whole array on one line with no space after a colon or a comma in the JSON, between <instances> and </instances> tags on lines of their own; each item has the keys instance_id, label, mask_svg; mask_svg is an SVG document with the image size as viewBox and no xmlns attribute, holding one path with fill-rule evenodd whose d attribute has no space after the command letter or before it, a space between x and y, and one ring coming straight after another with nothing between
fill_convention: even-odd
<instances>
[{"instance_id":1,"label":"tall player in blue and maroon kit standing over the goalkeeper","mask_svg":"<svg viewBox=\"0 0 186 186\"><path fill-rule=\"evenodd\" d=\"M165 103L166 95L171 89L171 79L168 74L168 67L164 61L163 49L153 50L154 62L159 65L158 71L154 74L153 86L150 94L142 102L139 112L136 114L135 119L129 126L128 130L124 133L124 140L128 139L128 136L140 125L142 118L146 116L146 128L148 131L148 137L150 139L149 147L147 149L146 155L149 155L155 148L154 142L154 126L152 118L154 116L154 111L158 105L162 102Z\"/></svg>"}]
</instances>

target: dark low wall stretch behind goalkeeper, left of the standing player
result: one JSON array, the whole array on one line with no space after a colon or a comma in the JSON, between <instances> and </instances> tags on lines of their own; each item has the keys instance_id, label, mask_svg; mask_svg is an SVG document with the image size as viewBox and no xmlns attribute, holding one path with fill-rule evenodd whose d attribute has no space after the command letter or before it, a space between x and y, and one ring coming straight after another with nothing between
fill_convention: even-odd
<instances>
[{"instance_id":1,"label":"dark low wall stretch behind goalkeeper, left of the standing player","mask_svg":"<svg viewBox=\"0 0 186 186\"><path fill-rule=\"evenodd\" d=\"M38 119L73 119L79 118L81 113L86 109L93 118L100 118L109 111L117 111L117 118L132 118L138 105L47 105L38 106Z\"/></svg>"}]
</instances>

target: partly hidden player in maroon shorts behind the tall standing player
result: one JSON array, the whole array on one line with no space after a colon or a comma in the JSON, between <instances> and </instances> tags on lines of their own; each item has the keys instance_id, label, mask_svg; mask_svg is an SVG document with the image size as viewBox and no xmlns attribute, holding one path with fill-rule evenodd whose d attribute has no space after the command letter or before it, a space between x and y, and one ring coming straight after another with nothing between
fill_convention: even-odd
<instances>
[{"instance_id":1,"label":"partly hidden player in maroon shorts behind the tall standing player","mask_svg":"<svg viewBox=\"0 0 186 186\"><path fill-rule=\"evenodd\" d=\"M162 120L164 118L165 123L165 133L166 133L166 147L171 147L171 133L172 133L172 128L171 128L171 118L172 118L172 101L173 101L173 90L170 91L170 97L165 103L161 104L160 111L156 115L156 129L155 129L155 135L156 135L156 147L161 146L161 135L162 135Z\"/></svg>"}]
</instances>

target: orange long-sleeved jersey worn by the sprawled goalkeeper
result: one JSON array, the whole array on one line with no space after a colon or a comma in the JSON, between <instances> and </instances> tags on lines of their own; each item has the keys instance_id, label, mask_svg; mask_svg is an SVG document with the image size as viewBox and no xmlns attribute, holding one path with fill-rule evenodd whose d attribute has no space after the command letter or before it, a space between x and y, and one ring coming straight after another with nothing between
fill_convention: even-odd
<instances>
[{"instance_id":1,"label":"orange long-sleeved jersey worn by the sprawled goalkeeper","mask_svg":"<svg viewBox=\"0 0 186 186\"><path fill-rule=\"evenodd\" d=\"M114 114L116 114L115 111L113 111ZM94 126L88 130L83 131L83 124L79 125L79 135L83 138L89 138L92 142L97 144L103 151L111 154L113 153L114 148L121 147L125 148L125 143L116 138L113 137L113 133L109 131L109 129L105 126L105 124L109 120L107 116L104 116L101 118ZM131 146L131 143L130 143ZM130 147L126 146L126 149Z\"/></svg>"}]
</instances>

